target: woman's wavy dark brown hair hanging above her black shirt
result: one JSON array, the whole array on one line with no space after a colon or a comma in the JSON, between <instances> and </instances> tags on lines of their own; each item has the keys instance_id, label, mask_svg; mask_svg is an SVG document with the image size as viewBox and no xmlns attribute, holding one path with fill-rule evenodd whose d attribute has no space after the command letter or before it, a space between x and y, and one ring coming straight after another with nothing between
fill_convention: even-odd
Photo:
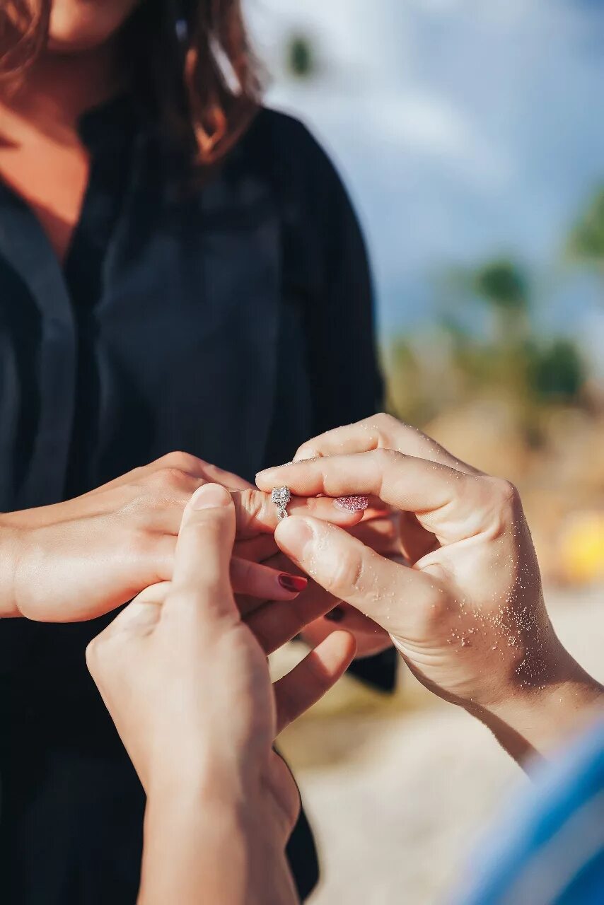
<instances>
[{"instance_id":1,"label":"woman's wavy dark brown hair hanging above her black shirt","mask_svg":"<svg viewBox=\"0 0 604 905\"><path fill-rule=\"evenodd\" d=\"M53 0L0 0L0 77L22 79L46 43ZM124 28L138 89L197 163L216 163L262 94L241 0L141 0Z\"/></svg>"}]
</instances>

